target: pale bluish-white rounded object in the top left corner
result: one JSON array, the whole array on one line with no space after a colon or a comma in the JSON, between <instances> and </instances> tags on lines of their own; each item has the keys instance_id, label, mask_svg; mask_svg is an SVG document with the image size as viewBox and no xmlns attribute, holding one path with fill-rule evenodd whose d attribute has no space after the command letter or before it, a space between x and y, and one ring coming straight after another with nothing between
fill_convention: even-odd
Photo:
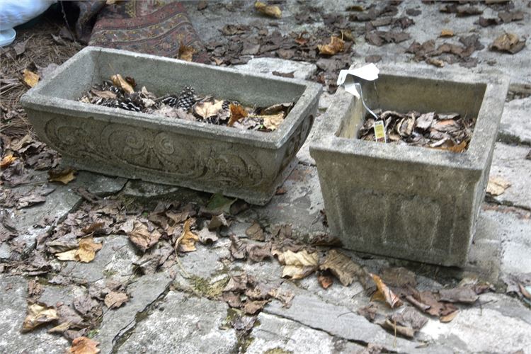
<instances>
[{"instance_id":1,"label":"pale bluish-white rounded object in the top left corner","mask_svg":"<svg viewBox=\"0 0 531 354\"><path fill-rule=\"evenodd\" d=\"M0 0L0 47L15 40L13 27L39 16L57 0Z\"/></svg>"}]
</instances>

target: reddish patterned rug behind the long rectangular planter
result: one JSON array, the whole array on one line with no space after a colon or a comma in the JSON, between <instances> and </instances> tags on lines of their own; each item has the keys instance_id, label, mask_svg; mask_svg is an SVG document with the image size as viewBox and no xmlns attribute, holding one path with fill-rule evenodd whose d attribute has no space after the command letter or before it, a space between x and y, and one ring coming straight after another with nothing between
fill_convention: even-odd
<instances>
[{"instance_id":1,"label":"reddish patterned rug behind the long rectangular planter","mask_svg":"<svg viewBox=\"0 0 531 354\"><path fill-rule=\"evenodd\" d=\"M72 4L72 3L71 3ZM202 42L178 1L74 1L79 9L75 34L99 47L178 57L181 45L195 49L194 62L208 62Z\"/></svg>"}]
</instances>

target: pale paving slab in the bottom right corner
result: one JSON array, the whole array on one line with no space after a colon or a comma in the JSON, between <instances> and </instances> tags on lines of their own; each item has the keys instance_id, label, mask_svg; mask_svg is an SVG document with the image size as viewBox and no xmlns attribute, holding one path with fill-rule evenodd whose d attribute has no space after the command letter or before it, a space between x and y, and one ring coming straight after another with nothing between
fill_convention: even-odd
<instances>
[{"instance_id":1,"label":"pale paving slab in the bottom right corner","mask_svg":"<svg viewBox=\"0 0 531 354\"><path fill-rule=\"evenodd\" d=\"M461 309L450 323L429 319L421 333L455 353L531 353L529 309L499 294L484 294L478 301L484 305Z\"/></svg>"}]
</instances>

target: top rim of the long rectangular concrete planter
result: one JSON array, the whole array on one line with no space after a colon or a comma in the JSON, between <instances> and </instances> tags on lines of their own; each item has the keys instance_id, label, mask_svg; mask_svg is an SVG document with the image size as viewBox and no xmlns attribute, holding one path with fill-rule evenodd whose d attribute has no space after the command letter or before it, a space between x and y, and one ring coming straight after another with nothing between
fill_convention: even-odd
<instances>
[{"instance_id":1,"label":"top rim of the long rectangular concrete planter","mask_svg":"<svg viewBox=\"0 0 531 354\"><path fill-rule=\"evenodd\" d=\"M122 110L120 108L109 108L102 105L94 105L91 103L82 103L79 101L70 100L67 98L57 98L54 96L47 96L44 92L47 84L54 80L59 74L64 72L67 68L75 64L75 62L90 55L92 52L107 52L110 54L126 55L129 57L143 57L146 59L154 59L159 62L172 62L178 64L186 64L187 66L205 68L207 70L217 70L236 74L242 77L253 76L257 78L267 79L269 81L287 82L290 84L298 84L304 86L304 92L295 102L292 110L285 117L285 122L278 127L274 132L258 132L254 130L240 130L234 127L226 127L222 125L213 125L205 122L190 122L181 119L165 118L161 115L153 115L148 113L138 113L130 110ZM181 132L187 135L195 135L198 137L205 137L205 135L215 135L219 139L224 139L228 142L239 142L243 144L253 144L266 149L278 149L282 147L290 135L297 128L299 120L306 118L306 115L312 108L312 101L319 98L322 91L322 86L312 81L305 81L300 79L290 79L280 76L270 76L267 74L255 74L249 72L241 72L237 69L227 67L215 67L208 64L200 64L195 62L185 62L180 59L172 59L167 57L158 57L156 55L147 55L143 53L130 52L127 50L115 50L103 47L85 47L83 50L77 52L74 56L64 62L59 68L55 70L50 76L40 81L35 87L24 93L21 97L21 104L24 108L32 108L35 110L44 110L51 113L61 113L64 115L76 115L80 118L93 118L95 120L120 122L128 125L139 126L160 126L172 132ZM280 103L280 102L279 102ZM297 117L298 118L295 118ZM290 119L297 119L290 122Z\"/></svg>"}]
</instances>

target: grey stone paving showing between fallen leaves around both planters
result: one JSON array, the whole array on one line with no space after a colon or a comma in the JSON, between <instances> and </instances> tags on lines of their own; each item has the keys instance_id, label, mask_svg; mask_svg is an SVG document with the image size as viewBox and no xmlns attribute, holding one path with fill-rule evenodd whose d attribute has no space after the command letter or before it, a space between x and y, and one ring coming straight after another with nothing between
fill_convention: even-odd
<instances>
[{"instance_id":1,"label":"grey stone paving showing between fallen leaves around both planters","mask_svg":"<svg viewBox=\"0 0 531 354\"><path fill-rule=\"evenodd\" d=\"M406 4L400 6L401 11L404 8L419 8L423 12L415 18L416 25L409 30L412 38L420 42L435 38L441 28L452 28L455 33L469 33L471 28L475 28L484 45L489 45L502 28L520 35L531 33L531 9L522 1L515 1L515 4L525 11L524 21L479 29L472 23L474 16L455 18L454 15L439 13L438 6L421 4L420 1L404 2ZM341 11L347 4L350 1L316 1L316 5L329 12ZM206 39L219 35L217 28L228 23L228 19L249 23L258 18L251 5L244 6L244 11L236 19L223 8L209 6L197 11L195 4L186 6L198 32ZM285 6L284 17L274 21L283 32L312 29L294 24L296 7L297 3L290 2ZM357 58L360 61L365 55L379 54L384 62L406 62L409 57L403 52L410 42L373 47L360 38L356 40L354 50L360 55ZM511 77L513 88L525 91L526 85L531 84L529 43L517 55L489 50L482 50L476 55L480 64L474 71L481 72L493 66ZM290 72L296 66L300 77L315 70L312 64L280 62L278 59L269 59L268 64L267 60L261 59L262 63L256 64L257 67L267 68L270 65L271 71L290 68L286 70ZM249 69L251 64L242 69ZM455 65L447 65L441 70L453 67ZM234 353L239 350L247 353L265 353L268 350L271 350L268 353L357 353L369 343L378 343L385 351L401 353L515 353L518 350L531 353L531 311L520 300L506 295L501 282L503 276L531 272L531 161L525 159L531 149L530 100L529 97L518 98L506 103L501 141L496 144L491 176L501 176L511 186L506 193L484 203L465 268L440 268L346 251L355 261L374 270L384 265L404 265L416 272L418 282L426 289L455 284L457 280L472 275L496 285L496 292L481 295L481 306L462 306L450 323L428 319L428 324L413 341L395 338L392 333L356 313L356 309L369 303L358 282L350 287L334 284L329 290L323 290L315 276L294 282L281 280L280 265L276 261L227 265L219 259L228 255L228 239L220 239L213 246L198 246L198 251L181 258L182 268L174 265L142 277L132 272L132 261L139 258L137 252L125 236L120 235L102 238L103 249L91 263L64 265L57 262L55 266L59 274L84 278L87 282L104 282L109 278L129 280L130 302L105 312L94 337L101 343L101 353ZM329 102L329 94L324 93L319 103L321 112ZM267 230L292 224L294 235L301 239L326 233L319 216L319 210L323 208L319 181L307 144L298 157L299 165L284 185L287 193L276 195L265 207L251 207L238 215L232 224L234 233L243 234L243 230L256 219ZM81 172L74 183L57 187L45 204L17 211L17 227L22 231L19 238L25 241L28 251L34 246L37 234L33 225L42 217L47 216L57 223L76 210L81 197L73 190L79 186L100 195L121 194L141 200L159 200L171 195L176 200L204 203L208 198L205 193L182 188ZM54 227L55 223L47 228ZM42 229L38 231L42 232ZM9 256L9 249L0 247L0 258ZM190 278L183 276L182 269L211 283L246 270L261 280L281 283L280 287L294 292L295 298L289 309L283 308L276 300L268 304L259 314L249 337L242 342L236 337L234 329L224 326L229 318L227 304L194 291ZM0 353L64 353L69 343L61 336L48 334L46 328L27 334L18 331L25 316L28 280L18 275L0 276ZM43 286L40 300L47 304L71 302L74 297L86 292L83 285Z\"/></svg>"}]
</instances>

